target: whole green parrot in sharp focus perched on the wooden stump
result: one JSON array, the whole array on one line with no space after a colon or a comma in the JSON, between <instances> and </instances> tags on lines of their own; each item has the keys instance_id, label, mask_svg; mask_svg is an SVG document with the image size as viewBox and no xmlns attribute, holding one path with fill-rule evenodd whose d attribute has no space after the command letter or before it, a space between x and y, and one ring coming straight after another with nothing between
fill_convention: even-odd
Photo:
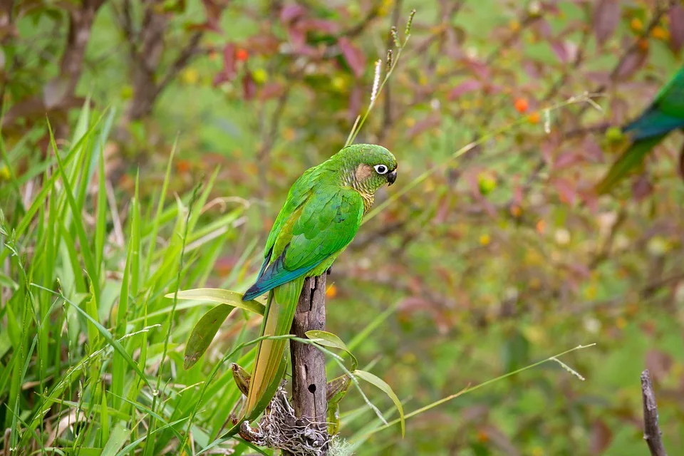
<instances>
[{"instance_id":1,"label":"whole green parrot in sharp focus perched on the wooden stump","mask_svg":"<svg viewBox=\"0 0 684 456\"><path fill-rule=\"evenodd\" d=\"M356 235L375 191L397 178L397 160L379 145L344 147L299 177L283 204L264 249L257 281L243 301L268 293L261 336L288 334L304 279L325 273ZM263 404L282 372L286 339L257 347L245 416ZM272 389L271 389L272 390Z\"/></svg>"}]
</instances>

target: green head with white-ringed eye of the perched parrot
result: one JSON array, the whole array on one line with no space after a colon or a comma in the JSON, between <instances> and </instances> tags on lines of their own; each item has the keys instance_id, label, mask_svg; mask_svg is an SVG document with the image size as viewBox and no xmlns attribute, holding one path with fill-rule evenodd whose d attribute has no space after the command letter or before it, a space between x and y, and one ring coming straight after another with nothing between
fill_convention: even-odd
<instances>
[{"instance_id":1,"label":"green head with white-ringed eye of the perched parrot","mask_svg":"<svg viewBox=\"0 0 684 456\"><path fill-rule=\"evenodd\" d=\"M381 145L354 144L336 154L343 163L346 178L362 190L375 192L397 180L397 159Z\"/></svg>"}]
</instances>

